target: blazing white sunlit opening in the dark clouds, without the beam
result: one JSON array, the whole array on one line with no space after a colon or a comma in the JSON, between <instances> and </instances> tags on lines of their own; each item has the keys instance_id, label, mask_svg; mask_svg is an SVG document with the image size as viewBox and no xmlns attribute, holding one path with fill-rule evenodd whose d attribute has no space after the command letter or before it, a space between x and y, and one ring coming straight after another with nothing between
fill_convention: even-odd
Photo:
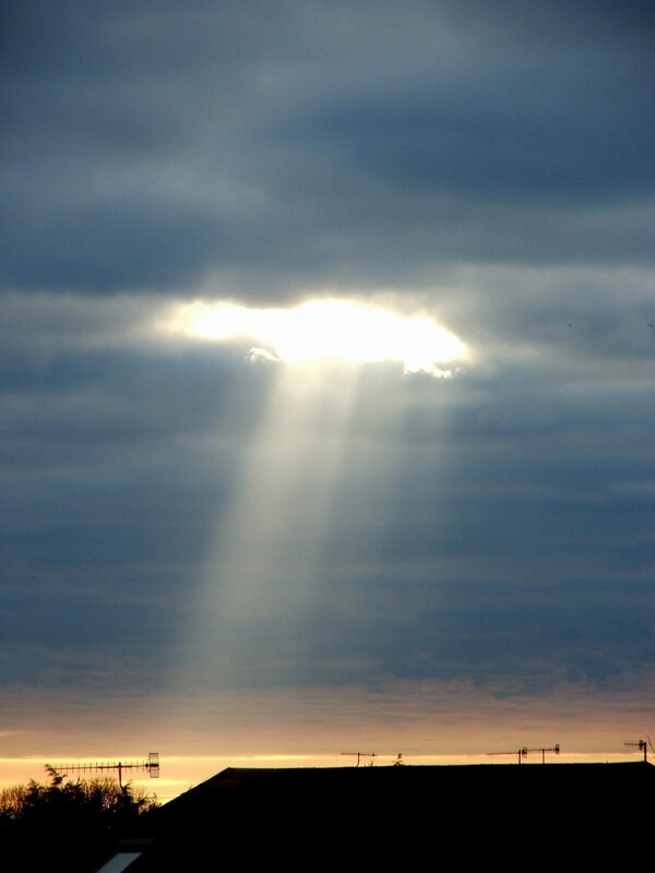
<instances>
[{"instance_id":1,"label":"blazing white sunlit opening in the dark clouds, without the beam","mask_svg":"<svg viewBox=\"0 0 655 873\"><path fill-rule=\"evenodd\" d=\"M288 364L392 361L406 373L445 378L449 364L468 356L466 345L431 318L333 298L285 309L195 301L181 304L168 326L216 343L243 339L255 344L251 359Z\"/></svg>"}]
</instances>

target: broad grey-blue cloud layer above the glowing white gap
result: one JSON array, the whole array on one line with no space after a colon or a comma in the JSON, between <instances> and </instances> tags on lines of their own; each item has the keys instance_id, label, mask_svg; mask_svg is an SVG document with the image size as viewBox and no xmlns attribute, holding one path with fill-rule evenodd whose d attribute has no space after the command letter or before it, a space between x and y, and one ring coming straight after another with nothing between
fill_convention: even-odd
<instances>
[{"instance_id":1,"label":"broad grey-blue cloud layer above the glowing white gap","mask_svg":"<svg viewBox=\"0 0 655 873\"><path fill-rule=\"evenodd\" d=\"M462 258L650 261L645 226L588 214L653 189L640 9L10 4L2 280L215 273L265 297Z\"/></svg>"}]
</instances>

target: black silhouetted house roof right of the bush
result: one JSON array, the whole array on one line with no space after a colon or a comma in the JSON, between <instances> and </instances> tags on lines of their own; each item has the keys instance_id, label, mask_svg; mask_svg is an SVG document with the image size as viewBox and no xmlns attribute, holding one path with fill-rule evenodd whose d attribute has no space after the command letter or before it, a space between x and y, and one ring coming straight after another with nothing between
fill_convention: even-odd
<instances>
[{"instance_id":1,"label":"black silhouetted house roof right of the bush","mask_svg":"<svg viewBox=\"0 0 655 873\"><path fill-rule=\"evenodd\" d=\"M142 851L128 873L631 870L654 800L646 762L228 768L140 816L117 849Z\"/></svg>"}]
</instances>

